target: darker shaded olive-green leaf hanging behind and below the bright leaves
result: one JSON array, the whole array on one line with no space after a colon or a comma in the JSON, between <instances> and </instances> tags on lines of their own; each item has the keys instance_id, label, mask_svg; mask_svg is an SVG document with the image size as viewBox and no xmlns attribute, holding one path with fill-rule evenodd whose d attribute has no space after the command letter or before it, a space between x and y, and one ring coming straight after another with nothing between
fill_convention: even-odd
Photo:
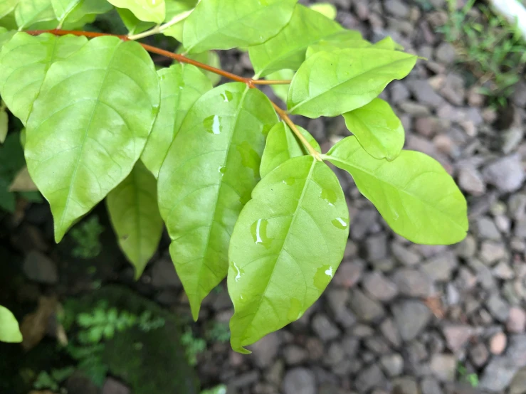
<instances>
[{"instance_id":1,"label":"darker shaded olive-green leaf hanging behind and below the bright leaves","mask_svg":"<svg viewBox=\"0 0 526 394\"><path fill-rule=\"evenodd\" d=\"M157 181L141 161L106 198L122 251L139 279L161 240L164 223L157 208Z\"/></svg>"}]
</instances>

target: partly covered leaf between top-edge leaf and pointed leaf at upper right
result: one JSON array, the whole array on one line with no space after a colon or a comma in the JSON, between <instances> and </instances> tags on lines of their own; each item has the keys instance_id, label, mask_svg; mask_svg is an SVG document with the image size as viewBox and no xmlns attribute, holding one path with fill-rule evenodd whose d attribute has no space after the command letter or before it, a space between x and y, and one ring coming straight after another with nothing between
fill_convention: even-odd
<instances>
[{"instance_id":1,"label":"partly covered leaf between top-edge leaf and pointed leaf at upper right","mask_svg":"<svg viewBox=\"0 0 526 394\"><path fill-rule=\"evenodd\" d=\"M342 31L338 23L301 4L296 5L290 22L277 36L248 48L256 77L285 68L298 70L305 61L307 47L337 31Z\"/></svg>"}]
</instances>

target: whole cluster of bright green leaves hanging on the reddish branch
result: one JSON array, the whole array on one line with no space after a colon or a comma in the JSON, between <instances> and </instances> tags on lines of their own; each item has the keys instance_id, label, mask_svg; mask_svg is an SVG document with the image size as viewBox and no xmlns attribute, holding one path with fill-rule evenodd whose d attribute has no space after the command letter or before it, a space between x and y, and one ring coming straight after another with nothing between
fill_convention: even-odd
<instances>
[{"instance_id":1,"label":"whole cluster of bright green leaves hanging on the reddish branch","mask_svg":"<svg viewBox=\"0 0 526 394\"><path fill-rule=\"evenodd\" d=\"M131 31L4 33L0 94L26 126L28 171L56 241L105 199L139 276L166 225L194 319L228 277L236 351L299 319L340 265L349 210L325 161L349 172L399 235L465 237L461 191L437 161L402 150L402 124L377 98L417 60L391 38L370 43L297 0L11 2L21 30L81 23L113 4ZM26 14L28 2L48 4L48 19ZM157 33L186 56L134 41ZM231 48L248 50L253 78L189 59ZM182 63L156 70L147 50ZM236 82L213 87L196 66ZM281 87L287 110L254 88L265 83ZM289 115L343 115L354 135L322 154Z\"/></svg>"}]
</instances>

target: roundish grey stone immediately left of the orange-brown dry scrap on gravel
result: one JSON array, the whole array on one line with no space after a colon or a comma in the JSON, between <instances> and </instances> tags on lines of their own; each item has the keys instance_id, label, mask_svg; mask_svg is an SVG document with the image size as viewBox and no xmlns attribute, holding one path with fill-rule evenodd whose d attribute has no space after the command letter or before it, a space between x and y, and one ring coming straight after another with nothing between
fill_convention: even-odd
<instances>
[{"instance_id":1,"label":"roundish grey stone immediately left of the orange-brown dry scrap on gravel","mask_svg":"<svg viewBox=\"0 0 526 394\"><path fill-rule=\"evenodd\" d=\"M431 320L431 311L425 304L414 300L397 302L392 307L396 326L404 341L412 341Z\"/></svg>"}]
</instances>

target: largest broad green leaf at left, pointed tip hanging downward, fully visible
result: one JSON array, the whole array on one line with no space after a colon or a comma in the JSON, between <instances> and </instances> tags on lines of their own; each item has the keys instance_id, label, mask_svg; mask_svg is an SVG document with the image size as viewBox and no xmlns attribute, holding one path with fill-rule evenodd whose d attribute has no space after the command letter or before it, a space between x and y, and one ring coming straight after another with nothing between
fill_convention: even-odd
<instances>
[{"instance_id":1,"label":"largest broad green leaf at left, pointed tip hanging downward, fully visible","mask_svg":"<svg viewBox=\"0 0 526 394\"><path fill-rule=\"evenodd\" d=\"M48 70L27 123L26 160L57 242L130 174L159 95L146 50L116 37L94 38Z\"/></svg>"}]
</instances>

